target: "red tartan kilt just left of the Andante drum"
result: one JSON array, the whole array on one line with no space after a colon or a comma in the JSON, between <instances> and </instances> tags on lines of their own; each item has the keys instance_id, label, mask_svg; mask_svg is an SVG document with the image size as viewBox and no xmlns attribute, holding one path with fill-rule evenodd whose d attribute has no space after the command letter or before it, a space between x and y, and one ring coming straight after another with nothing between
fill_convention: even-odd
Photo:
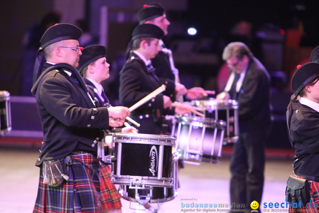
<instances>
[{"instance_id":1,"label":"red tartan kilt just left of the Andante drum","mask_svg":"<svg viewBox=\"0 0 319 213\"><path fill-rule=\"evenodd\" d=\"M110 183L112 170L101 162L101 205L102 209L119 209L122 207L121 196L114 184Z\"/></svg>"}]
</instances>

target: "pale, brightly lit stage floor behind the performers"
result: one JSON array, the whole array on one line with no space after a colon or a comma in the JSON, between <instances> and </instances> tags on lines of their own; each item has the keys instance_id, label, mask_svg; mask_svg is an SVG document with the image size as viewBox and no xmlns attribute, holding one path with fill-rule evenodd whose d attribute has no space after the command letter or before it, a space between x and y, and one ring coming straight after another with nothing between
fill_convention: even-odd
<instances>
[{"instance_id":1,"label":"pale, brightly lit stage floor behind the performers","mask_svg":"<svg viewBox=\"0 0 319 213\"><path fill-rule=\"evenodd\" d=\"M273 152L274 153L274 152ZM286 181L292 175L292 152L281 155L266 155L265 185L261 211L274 209L263 208L264 202L279 204L285 202ZM34 166L39 152L36 148L4 148L0 147L0 212L27 213L32 212L37 196L39 168ZM229 208L182 208L183 203L223 203L229 204L229 162L226 155L220 159L220 164L190 165L179 171L181 187L178 196L160 205L158 212L175 213L183 209L194 209L196 212L226 211ZM181 199L193 199L189 201ZM196 201L194 199L197 199ZM122 200L122 212L131 213L130 202ZM267 210L268 209L268 210ZM279 207L279 209L282 209ZM278 210L279 210L278 209ZM281 210L282 211L282 210Z\"/></svg>"}]
</instances>

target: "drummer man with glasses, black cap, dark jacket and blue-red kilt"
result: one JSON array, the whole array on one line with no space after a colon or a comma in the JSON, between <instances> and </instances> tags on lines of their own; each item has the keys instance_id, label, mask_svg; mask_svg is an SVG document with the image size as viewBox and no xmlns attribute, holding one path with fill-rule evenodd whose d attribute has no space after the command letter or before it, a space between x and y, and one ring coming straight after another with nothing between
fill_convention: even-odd
<instances>
[{"instance_id":1,"label":"drummer man with glasses, black cap, dark jacket and blue-red kilt","mask_svg":"<svg viewBox=\"0 0 319 213\"><path fill-rule=\"evenodd\" d=\"M40 181L33 212L101 212L97 155L101 129L108 128L113 118L123 120L130 115L126 107L95 107L75 69L82 54L80 35L78 27L57 24L40 40L52 67L42 72L31 90L44 135L36 163Z\"/></svg>"}]
</instances>

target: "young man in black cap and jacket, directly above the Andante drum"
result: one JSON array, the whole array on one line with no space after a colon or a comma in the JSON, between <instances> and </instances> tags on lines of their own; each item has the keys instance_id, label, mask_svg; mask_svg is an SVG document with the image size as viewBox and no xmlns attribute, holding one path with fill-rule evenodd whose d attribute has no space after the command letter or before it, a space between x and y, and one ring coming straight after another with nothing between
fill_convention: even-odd
<instances>
[{"instance_id":1,"label":"young man in black cap and jacket, directly above the Andante drum","mask_svg":"<svg viewBox=\"0 0 319 213\"><path fill-rule=\"evenodd\" d=\"M159 94L131 113L132 119L141 124L139 133L160 134L162 116L187 112L180 108L170 110L171 98L174 94L174 82L161 81L151 65L151 58L160 51L159 39L164 32L152 24L142 24L135 27L132 33L133 51L120 72L120 102L130 107L149 95L161 84L166 85L163 94Z\"/></svg>"}]
</instances>

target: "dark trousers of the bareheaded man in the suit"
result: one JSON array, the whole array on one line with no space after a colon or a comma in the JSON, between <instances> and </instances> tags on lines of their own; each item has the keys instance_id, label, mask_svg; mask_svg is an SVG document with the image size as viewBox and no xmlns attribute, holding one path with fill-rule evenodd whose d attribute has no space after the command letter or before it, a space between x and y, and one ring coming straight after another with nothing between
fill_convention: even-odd
<instances>
[{"instance_id":1,"label":"dark trousers of the bareheaded man in the suit","mask_svg":"<svg viewBox=\"0 0 319 213\"><path fill-rule=\"evenodd\" d=\"M245 204L252 210L250 203L257 201L261 205L264 183L265 154L264 144L268 133L252 131L239 134L234 144L230 163L230 200L236 204ZM260 209L257 209L260 212Z\"/></svg>"}]
</instances>

